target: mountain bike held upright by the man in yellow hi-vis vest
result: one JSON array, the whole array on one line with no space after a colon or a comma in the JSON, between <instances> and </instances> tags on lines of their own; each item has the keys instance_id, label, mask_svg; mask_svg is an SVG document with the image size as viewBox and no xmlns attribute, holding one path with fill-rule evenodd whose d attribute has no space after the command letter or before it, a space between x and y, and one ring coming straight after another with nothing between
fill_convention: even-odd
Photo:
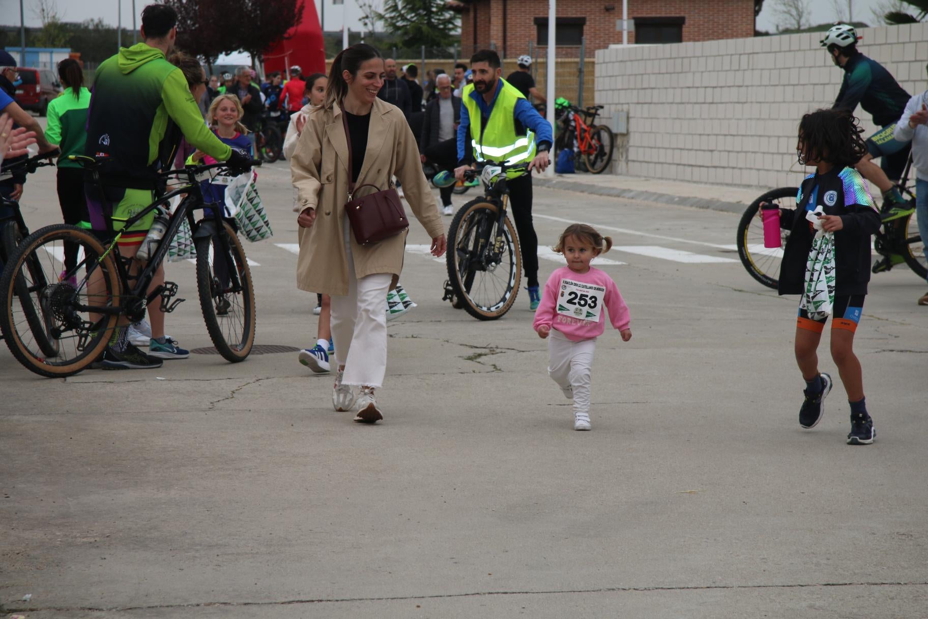
<instances>
[{"instance_id":1,"label":"mountain bike held upright by the man in yellow hi-vis vest","mask_svg":"<svg viewBox=\"0 0 928 619\"><path fill-rule=\"evenodd\" d=\"M528 172L528 163L485 165L465 172L466 180L479 175L485 195L462 206L448 227L448 279L442 301L480 320L505 316L519 293L522 254L506 209L507 173L521 172Z\"/></svg>"}]
</instances>

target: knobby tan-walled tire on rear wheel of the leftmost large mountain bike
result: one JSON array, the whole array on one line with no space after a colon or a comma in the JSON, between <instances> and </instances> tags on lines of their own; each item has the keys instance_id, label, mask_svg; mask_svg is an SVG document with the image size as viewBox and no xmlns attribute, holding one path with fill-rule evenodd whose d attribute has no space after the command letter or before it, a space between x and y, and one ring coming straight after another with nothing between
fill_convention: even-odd
<instances>
[{"instance_id":1,"label":"knobby tan-walled tire on rear wheel of the leftmost large mountain bike","mask_svg":"<svg viewBox=\"0 0 928 619\"><path fill-rule=\"evenodd\" d=\"M16 278L24 277L22 269L33 272L34 266L30 263L36 260L35 254L43 251L43 245L52 241L70 240L78 244L85 245L93 251L93 255L102 255L106 250L100 244L96 237L77 226L68 224L56 224L54 226L45 226L33 232L28 238L19 244L19 249L10 258L10 264L4 269L3 277L0 277L0 329L6 336L6 345L10 353L23 365L35 374L48 378L65 378L77 374L84 368L87 368L99 356L110 339L112 329L116 327L119 316L115 314L106 316L102 328L97 330L97 336L91 342L91 345L84 349L80 355L72 359L49 359L34 355L32 350L26 346L19 334L15 324L13 303L17 299ZM89 253L89 252L85 252ZM120 279L117 276L117 267L112 253L106 255L100 264L96 262L91 268L100 269L101 280L103 285L108 288L108 304L116 306L119 304L119 295L121 290ZM47 280L47 277L44 277ZM46 288L51 288L58 284L57 279L47 281ZM41 295L43 290L36 290ZM99 303L98 301L95 303ZM30 329L32 326L30 325ZM33 335L34 337L34 335ZM42 347L41 342L37 342Z\"/></svg>"}]
</instances>

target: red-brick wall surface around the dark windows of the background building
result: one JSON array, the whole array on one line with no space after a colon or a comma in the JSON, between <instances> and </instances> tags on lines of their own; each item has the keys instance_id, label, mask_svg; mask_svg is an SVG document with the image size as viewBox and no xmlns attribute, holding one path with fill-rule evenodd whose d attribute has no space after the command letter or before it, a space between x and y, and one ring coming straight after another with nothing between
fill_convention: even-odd
<instances>
[{"instance_id":1,"label":"red-brick wall surface around the dark windows of the background building","mask_svg":"<svg viewBox=\"0 0 928 619\"><path fill-rule=\"evenodd\" d=\"M535 18L547 17L548 4L538 0L474 0L461 16L461 56L491 44L507 57L527 54L529 42L535 47L538 43ZM622 43L622 0L558 0L558 17L586 18L587 52ZM684 42L754 35L754 0L628 0L628 19L635 17L685 17ZM634 32L628 33L628 42L635 42ZM545 49L540 48L542 54ZM560 58L577 58L579 53L579 46L558 48Z\"/></svg>"}]
</instances>

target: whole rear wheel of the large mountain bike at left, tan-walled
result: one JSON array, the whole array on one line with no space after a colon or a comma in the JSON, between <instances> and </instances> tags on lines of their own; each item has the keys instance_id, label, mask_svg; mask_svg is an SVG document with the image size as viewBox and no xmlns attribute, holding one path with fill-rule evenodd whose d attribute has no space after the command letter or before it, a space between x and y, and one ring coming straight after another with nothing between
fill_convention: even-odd
<instances>
[{"instance_id":1,"label":"whole rear wheel of the large mountain bike at left, tan-walled","mask_svg":"<svg viewBox=\"0 0 928 619\"><path fill-rule=\"evenodd\" d=\"M77 264L58 281L66 242L76 244ZM112 254L97 260L104 251L96 237L66 224L44 227L19 244L0 277L0 328L25 368L63 378L103 352L118 316L90 308L118 307L120 290Z\"/></svg>"}]
</instances>

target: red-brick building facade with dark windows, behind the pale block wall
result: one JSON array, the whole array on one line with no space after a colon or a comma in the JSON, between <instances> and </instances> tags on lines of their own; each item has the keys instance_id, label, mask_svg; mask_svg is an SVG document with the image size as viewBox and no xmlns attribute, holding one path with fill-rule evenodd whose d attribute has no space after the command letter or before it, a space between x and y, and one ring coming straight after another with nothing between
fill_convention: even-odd
<instances>
[{"instance_id":1,"label":"red-brick building facade with dark windows, behind the pale block wall","mask_svg":"<svg viewBox=\"0 0 928 619\"><path fill-rule=\"evenodd\" d=\"M543 0L451 0L461 13L462 56L494 46L502 58L547 53ZM628 43L682 43L754 36L754 0L628 0ZM622 43L622 0L558 0L558 57L586 56Z\"/></svg>"}]
</instances>

